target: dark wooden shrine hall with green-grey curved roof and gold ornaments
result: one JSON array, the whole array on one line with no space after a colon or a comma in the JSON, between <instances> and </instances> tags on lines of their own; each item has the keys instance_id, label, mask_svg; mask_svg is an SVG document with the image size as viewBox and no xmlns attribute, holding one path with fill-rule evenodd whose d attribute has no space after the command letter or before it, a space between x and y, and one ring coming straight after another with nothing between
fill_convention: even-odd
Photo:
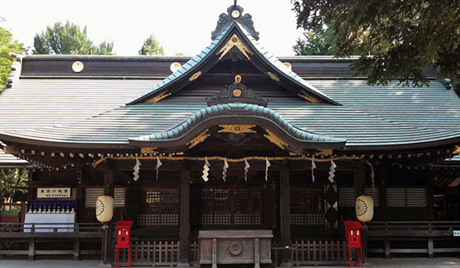
<instances>
[{"instance_id":1,"label":"dark wooden shrine hall with green-grey curved roof and gold ornaments","mask_svg":"<svg viewBox=\"0 0 460 268\"><path fill-rule=\"evenodd\" d=\"M459 199L450 212L437 202L446 189L432 169L459 153L449 81L429 69L422 88L369 86L352 75L353 57L272 56L255 25L230 6L192 58L17 56L0 95L0 141L36 167L26 217L75 215L67 227L0 223L0 257L110 265L114 226L127 220L134 265L200 263L200 239L217 239L208 231L229 241L270 231L256 250L271 254L267 264L345 264L343 222L356 219L362 194L374 199L364 255L460 252ZM114 198L106 235L95 206L104 194ZM231 245L216 250L237 258L254 246Z\"/></svg>"}]
</instances>

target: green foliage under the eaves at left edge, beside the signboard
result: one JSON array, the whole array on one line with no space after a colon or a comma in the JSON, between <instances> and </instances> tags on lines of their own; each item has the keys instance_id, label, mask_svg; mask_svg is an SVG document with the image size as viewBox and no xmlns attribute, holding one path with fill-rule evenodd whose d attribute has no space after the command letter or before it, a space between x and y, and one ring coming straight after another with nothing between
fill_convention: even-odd
<instances>
[{"instance_id":1,"label":"green foliage under the eaves at left edge, beside the signboard","mask_svg":"<svg viewBox=\"0 0 460 268\"><path fill-rule=\"evenodd\" d=\"M16 192L27 192L28 171L18 168L0 172L0 199L13 199Z\"/></svg>"}]
</instances>

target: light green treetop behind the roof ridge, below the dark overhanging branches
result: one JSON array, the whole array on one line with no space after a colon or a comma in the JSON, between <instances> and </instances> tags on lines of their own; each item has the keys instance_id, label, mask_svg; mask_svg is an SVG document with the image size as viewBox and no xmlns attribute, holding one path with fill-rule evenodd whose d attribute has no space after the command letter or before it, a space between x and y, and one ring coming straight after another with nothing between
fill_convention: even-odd
<instances>
[{"instance_id":1,"label":"light green treetop behind the roof ridge, below the dark overhanging branches","mask_svg":"<svg viewBox=\"0 0 460 268\"><path fill-rule=\"evenodd\" d=\"M335 49L335 38L331 28L319 27L304 33L305 40L300 38L292 46L297 56L301 55L332 55Z\"/></svg>"}]
</instances>

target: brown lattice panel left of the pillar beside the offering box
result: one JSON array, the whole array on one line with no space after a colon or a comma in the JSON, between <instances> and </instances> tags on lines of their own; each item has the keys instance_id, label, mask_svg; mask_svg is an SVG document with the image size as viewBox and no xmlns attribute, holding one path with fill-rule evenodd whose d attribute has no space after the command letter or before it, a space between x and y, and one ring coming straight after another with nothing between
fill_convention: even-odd
<instances>
[{"instance_id":1,"label":"brown lattice panel left of the pillar beside the offering box","mask_svg":"<svg viewBox=\"0 0 460 268\"><path fill-rule=\"evenodd\" d=\"M141 190L139 226L178 226L179 190L174 188L144 187Z\"/></svg>"}]
</instances>

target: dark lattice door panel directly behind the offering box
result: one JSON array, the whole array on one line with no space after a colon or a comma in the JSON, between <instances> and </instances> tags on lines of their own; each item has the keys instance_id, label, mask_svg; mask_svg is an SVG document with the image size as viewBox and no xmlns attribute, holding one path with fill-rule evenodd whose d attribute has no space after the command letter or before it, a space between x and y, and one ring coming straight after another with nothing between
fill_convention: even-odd
<instances>
[{"instance_id":1,"label":"dark lattice door panel directly behind the offering box","mask_svg":"<svg viewBox=\"0 0 460 268\"><path fill-rule=\"evenodd\" d=\"M262 187L219 186L202 190L202 226L262 225Z\"/></svg>"}]
</instances>

